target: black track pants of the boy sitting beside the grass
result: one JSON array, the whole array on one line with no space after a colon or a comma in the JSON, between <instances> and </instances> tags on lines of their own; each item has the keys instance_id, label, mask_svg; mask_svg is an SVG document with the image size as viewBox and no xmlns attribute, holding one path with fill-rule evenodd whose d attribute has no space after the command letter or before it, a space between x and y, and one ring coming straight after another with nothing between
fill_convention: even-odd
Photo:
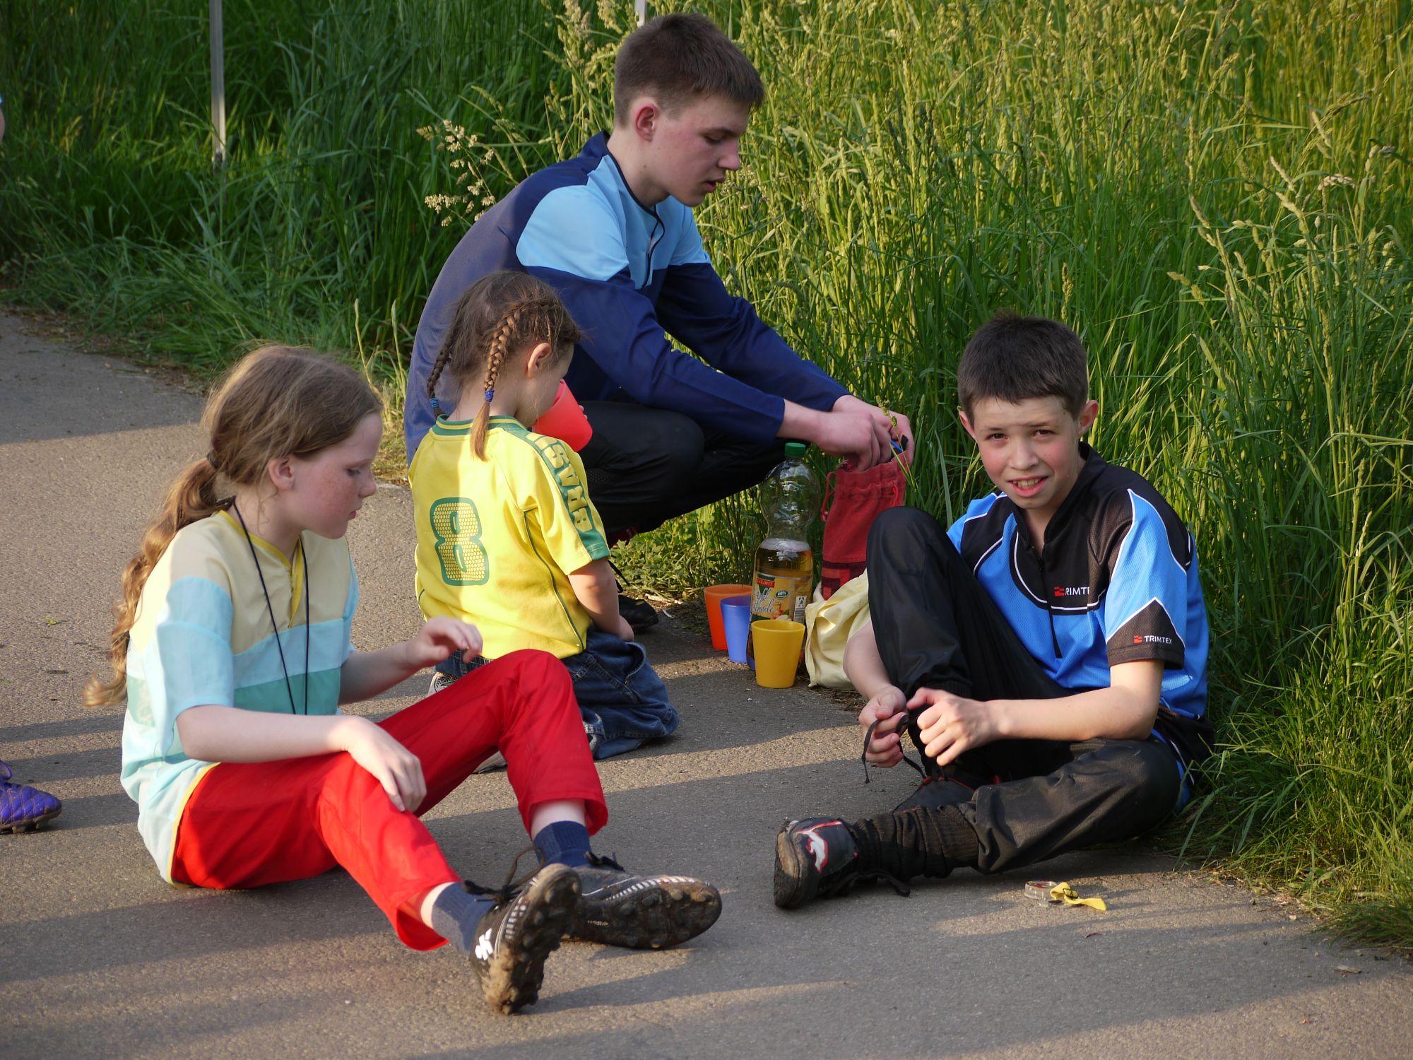
<instances>
[{"instance_id":1,"label":"black track pants of the boy sitting beside the grass","mask_svg":"<svg viewBox=\"0 0 1413 1060\"><path fill-rule=\"evenodd\" d=\"M1046 674L926 512L880 514L869 534L868 570L879 654L906 695L942 688L972 700L1017 700L1075 691ZM916 715L909 731L921 746ZM1181 787L1177 758L1153 738L996 741L945 767L924 765L927 779L899 811L955 806L976 830L982 872L1139 835L1173 811Z\"/></svg>"}]
</instances>

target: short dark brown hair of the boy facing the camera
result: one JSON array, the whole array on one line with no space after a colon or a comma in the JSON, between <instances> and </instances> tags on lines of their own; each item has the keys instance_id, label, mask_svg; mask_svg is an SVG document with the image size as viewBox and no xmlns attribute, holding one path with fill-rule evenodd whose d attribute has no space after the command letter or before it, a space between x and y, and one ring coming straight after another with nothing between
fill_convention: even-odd
<instances>
[{"instance_id":1,"label":"short dark brown hair of the boy facing the camera","mask_svg":"<svg viewBox=\"0 0 1413 1060\"><path fill-rule=\"evenodd\" d=\"M1089 400L1089 369L1080 336L1058 321L1002 311L972 335L957 365L957 399L968 417L976 401L1020 404L1058 397L1070 416Z\"/></svg>"}]
</instances>

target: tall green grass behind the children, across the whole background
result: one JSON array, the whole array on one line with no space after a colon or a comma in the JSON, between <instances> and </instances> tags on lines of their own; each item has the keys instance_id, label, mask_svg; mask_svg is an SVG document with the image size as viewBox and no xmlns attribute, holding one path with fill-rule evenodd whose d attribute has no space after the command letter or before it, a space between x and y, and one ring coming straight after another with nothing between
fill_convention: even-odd
<instances>
[{"instance_id":1,"label":"tall green grass behind the children, across the whole background","mask_svg":"<svg viewBox=\"0 0 1413 1060\"><path fill-rule=\"evenodd\" d=\"M985 489L952 411L968 335L999 307L1077 328L1095 444L1173 499L1204 574L1222 752L1174 844L1413 943L1413 6L695 6L770 93L698 211L728 285L913 417L910 500L944 519ZM0 0L14 297L202 363L297 338L390 377L462 211L608 123L632 24L627 0L227 4L227 48L242 23L259 45L227 51L216 177L199 23L85 8ZM623 558L682 591L757 536L740 497Z\"/></svg>"}]
</instances>

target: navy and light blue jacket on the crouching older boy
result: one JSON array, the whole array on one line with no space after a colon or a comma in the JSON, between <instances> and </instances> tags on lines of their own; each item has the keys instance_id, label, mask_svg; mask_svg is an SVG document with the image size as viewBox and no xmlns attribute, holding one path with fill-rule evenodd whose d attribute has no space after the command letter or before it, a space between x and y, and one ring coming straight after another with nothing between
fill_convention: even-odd
<instances>
[{"instance_id":1,"label":"navy and light blue jacket on the crouching older boy","mask_svg":"<svg viewBox=\"0 0 1413 1060\"><path fill-rule=\"evenodd\" d=\"M790 349L750 302L726 293L691 209L674 198L654 208L633 196L599 133L578 157L527 177L486 211L442 266L407 377L408 459L432 425L427 377L456 300L497 269L548 283L585 331L567 376L581 401L626 396L766 442L780 430L784 399L824 410L848 393ZM706 363L674 349L664 331ZM444 407L455 403L454 390L449 380L438 383Z\"/></svg>"}]
</instances>

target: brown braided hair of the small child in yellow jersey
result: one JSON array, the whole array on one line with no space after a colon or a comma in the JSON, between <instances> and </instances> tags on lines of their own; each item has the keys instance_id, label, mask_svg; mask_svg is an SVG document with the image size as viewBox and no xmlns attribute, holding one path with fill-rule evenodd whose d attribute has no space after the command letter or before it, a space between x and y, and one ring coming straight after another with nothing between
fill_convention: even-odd
<instances>
[{"instance_id":1,"label":"brown braided hair of the small child in yellow jersey","mask_svg":"<svg viewBox=\"0 0 1413 1060\"><path fill-rule=\"evenodd\" d=\"M584 338L579 325L554 288L528 273L502 270L473 283L456 300L447 338L427 377L427 396L437 396L437 380L447 372L458 390L465 390L483 370L483 389L496 387L506 358L536 342L550 343L554 358L564 356ZM471 432L472 451L486 458L486 424L490 400L476 413Z\"/></svg>"}]
</instances>

